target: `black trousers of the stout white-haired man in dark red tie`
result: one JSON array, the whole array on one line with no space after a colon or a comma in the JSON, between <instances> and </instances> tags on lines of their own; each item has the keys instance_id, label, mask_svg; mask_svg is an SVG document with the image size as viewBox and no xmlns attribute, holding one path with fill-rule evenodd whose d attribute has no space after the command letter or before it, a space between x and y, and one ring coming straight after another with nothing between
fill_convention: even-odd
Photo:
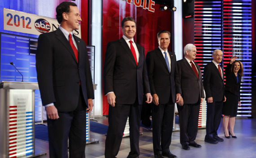
<instances>
[{"instance_id":1,"label":"black trousers of the stout white-haired man in dark red tie","mask_svg":"<svg viewBox=\"0 0 256 158\"><path fill-rule=\"evenodd\" d=\"M200 103L177 105L180 121L181 145L194 143L198 131Z\"/></svg>"}]
</instances>

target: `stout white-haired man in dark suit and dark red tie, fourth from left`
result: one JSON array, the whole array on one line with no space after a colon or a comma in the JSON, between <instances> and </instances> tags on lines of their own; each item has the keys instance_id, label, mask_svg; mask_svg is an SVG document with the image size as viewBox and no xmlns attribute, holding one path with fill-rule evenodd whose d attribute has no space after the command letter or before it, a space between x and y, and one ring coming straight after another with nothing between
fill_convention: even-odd
<instances>
[{"instance_id":1,"label":"stout white-haired man in dark suit and dark red tie, fourth from left","mask_svg":"<svg viewBox=\"0 0 256 158\"><path fill-rule=\"evenodd\" d=\"M200 103L204 98L202 73L199 65L194 62L196 47L187 44L184 47L184 59L177 61L181 81L181 101L178 102L180 120L180 142L182 149L189 150L189 146L200 148L194 140L197 135Z\"/></svg>"}]
</instances>

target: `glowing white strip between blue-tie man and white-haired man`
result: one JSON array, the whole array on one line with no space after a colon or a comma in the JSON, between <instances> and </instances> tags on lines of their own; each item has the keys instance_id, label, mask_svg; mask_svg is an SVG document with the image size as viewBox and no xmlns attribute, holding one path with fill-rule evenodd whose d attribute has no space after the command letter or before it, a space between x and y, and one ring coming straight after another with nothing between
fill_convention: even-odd
<instances>
[{"instance_id":1,"label":"glowing white strip between blue-tie man and white-haired man","mask_svg":"<svg viewBox=\"0 0 256 158\"><path fill-rule=\"evenodd\" d=\"M174 0L174 6L177 10L174 12L174 52L178 60L183 58L182 48L182 1Z\"/></svg>"}]
</instances>

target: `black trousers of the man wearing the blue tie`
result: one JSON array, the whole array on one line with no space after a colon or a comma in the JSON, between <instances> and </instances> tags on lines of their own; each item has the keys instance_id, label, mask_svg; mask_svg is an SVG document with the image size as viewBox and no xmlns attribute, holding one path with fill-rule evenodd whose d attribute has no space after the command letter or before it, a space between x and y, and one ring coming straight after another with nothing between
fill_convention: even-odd
<instances>
[{"instance_id":1,"label":"black trousers of the man wearing the blue tie","mask_svg":"<svg viewBox=\"0 0 256 158\"><path fill-rule=\"evenodd\" d=\"M170 152L174 118L174 104L152 103L152 127L154 155Z\"/></svg>"}]
</instances>

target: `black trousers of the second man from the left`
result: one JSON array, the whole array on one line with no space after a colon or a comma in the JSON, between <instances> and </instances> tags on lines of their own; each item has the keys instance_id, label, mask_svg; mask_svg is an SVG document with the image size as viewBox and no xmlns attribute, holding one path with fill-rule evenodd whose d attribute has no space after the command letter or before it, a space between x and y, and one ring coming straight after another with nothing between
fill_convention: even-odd
<instances>
[{"instance_id":1,"label":"black trousers of the second man from the left","mask_svg":"<svg viewBox=\"0 0 256 158\"><path fill-rule=\"evenodd\" d=\"M140 155L141 105L138 105L138 103L132 105L115 104L115 107L109 105L108 116L109 127L106 136L105 158L115 158L118 154L128 117L131 148L128 158L138 157Z\"/></svg>"}]
</instances>

